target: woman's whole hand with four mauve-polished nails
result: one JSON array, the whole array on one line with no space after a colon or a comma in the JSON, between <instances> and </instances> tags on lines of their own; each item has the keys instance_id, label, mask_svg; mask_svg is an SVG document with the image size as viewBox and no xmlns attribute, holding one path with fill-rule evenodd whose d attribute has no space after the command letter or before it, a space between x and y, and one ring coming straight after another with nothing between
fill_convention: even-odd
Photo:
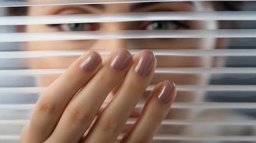
<instances>
[{"instance_id":1,"label":"woman's whole hand with four mauve-polished nails","mask_svg":"<svg viewBox=\"0 0 256 143\"><path fill-rule=\"evenodd\" d=\"M150 84L155 67L155 55L148 50L132 58L126 49L119 49L103 64L99 53L85 53L42 93L20 142L114 143ZM117 85L115 97L98 115ZM159 83L120 142L150 143L175 95L175 84Z\"/></svg>"}]
</instances>

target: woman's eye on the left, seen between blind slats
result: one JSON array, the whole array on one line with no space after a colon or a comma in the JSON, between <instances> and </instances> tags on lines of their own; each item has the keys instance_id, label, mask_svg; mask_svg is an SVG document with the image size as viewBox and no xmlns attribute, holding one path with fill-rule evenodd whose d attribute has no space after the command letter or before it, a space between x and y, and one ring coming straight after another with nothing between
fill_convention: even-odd
<instances>
[{"instance_id":1,"label":"woman's eye on the left, seen between blind slats","mask_svg":"<svg viewBox=\"0 0 256 143\"><path fill-rule=\"evenodd\" d=\"M70 23L70 24L51 24L51 27L58 27L58 31L95 31L97 25L94 23Z\"/></svg>"}]
</instances>

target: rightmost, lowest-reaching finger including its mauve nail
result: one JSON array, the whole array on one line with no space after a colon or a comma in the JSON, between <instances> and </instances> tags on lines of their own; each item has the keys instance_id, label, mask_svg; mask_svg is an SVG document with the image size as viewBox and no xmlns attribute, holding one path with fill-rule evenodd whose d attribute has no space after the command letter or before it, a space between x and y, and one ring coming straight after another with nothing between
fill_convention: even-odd
<instances>
[{"instance_id":1,"label":"rightmost, lowest-reaching finger including its mauve nail","mask_svg":"<svg viewBox=\"0 0 256 143\"><path fill-rule=\"evenodd\" d=\"M151 143L176 96L175 84L164 81L150 93L141 116L120 143Z\"/></svg>"}]
</instances>

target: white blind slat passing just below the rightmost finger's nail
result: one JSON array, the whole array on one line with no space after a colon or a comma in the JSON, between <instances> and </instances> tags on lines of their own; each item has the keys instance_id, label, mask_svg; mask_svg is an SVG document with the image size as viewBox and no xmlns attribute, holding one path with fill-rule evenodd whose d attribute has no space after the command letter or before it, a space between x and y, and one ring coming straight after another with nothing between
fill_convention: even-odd
<instances>
[{"instance_id":1,"label":"white blind slat passing just below the rightmost finger's nail","mask_svg":"<svg viewBox=\"0 0 256 143\"><path fill-rule=\"evenodd\" d=\"M106 105L103 105L106 106ZM0 104L1 110L32 110L35 104ZM138 103L135 108L143 108L144 103ZM203 103L173 103L171 108L179 109L256 109L256 103L225 103L225 102L203 102Z\"/></svg>"}]
</instances>

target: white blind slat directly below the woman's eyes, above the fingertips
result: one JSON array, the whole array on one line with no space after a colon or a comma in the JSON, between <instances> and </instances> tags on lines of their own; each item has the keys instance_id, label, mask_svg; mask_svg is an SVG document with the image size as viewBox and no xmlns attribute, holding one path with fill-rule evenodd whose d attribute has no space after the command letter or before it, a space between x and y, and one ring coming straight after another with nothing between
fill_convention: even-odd
<instances>
[{"instance_id":1,"label":"white blind slat directly below the woman's eyes, above the fingertips","mask_svg":"<svg viewBox=\"0 0 256 143\"><path fill-rule=\"evenodd\" d=\"M0 42L99 40L99 39L146 39L146 38L207 38L207 37L212 37L212 38L256 37L256 29L0 33Z\"/></svg>"}]
</instances>

